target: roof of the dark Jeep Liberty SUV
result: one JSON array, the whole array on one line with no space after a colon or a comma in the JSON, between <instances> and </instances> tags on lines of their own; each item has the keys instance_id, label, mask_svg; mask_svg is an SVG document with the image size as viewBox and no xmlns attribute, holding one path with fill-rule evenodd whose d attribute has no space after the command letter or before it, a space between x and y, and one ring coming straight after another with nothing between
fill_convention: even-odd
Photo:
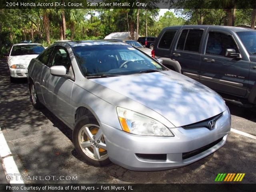
<instances>
[{"instance_id":1,"label":"roof of the dark Jeep Liberty SUV","mask_svg":"<svg viewBox=\"0 0 256 192\"><path fill-rule=\"evenodd\" d=\"M234 26L220 26L220 25L183 25L183 26L170 26L164 28L165 30L176 28L176 27L202 27L202 28L214 28L214 29L222 29L222 30L232 30L234 32L240 32L240 31L255 31L254 29L244 28L244 27L234 27Z\"/></svg>"}]
</instances>

